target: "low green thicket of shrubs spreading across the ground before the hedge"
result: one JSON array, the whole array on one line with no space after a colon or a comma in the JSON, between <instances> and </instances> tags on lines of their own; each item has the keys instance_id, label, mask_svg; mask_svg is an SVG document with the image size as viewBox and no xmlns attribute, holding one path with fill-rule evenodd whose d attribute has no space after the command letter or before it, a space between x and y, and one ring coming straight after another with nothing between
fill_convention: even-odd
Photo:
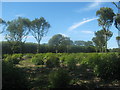
<instances>
[{"instance_id":1,"label":"low green thicket of shrubs spreading across the ground before the hedge","mask_svg":"<svg viewBox=\"0 0 120 90\"><path fill-rule=\"evenodd\" d=\"M69 72L66 70L76 70L77 64L89 67L93 74L102 80L120 80L120 55L118 53L5 54L3 59L3 87L17 88L15 85L19 83L17 86L24 88L26 85L25 73L15 66L20 59L29 59L35 65L44 65L45 68L53 70L48 75L49 84L52 88L67 87L70 80L67 78Z\"/></svg>"}]
</instances>

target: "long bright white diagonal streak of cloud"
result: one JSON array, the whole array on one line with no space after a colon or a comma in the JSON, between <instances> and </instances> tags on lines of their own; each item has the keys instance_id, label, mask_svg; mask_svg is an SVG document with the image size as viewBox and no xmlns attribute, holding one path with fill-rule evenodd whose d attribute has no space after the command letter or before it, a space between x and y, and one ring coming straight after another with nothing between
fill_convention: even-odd
<instances>
[{"instance_id":1,"label":"long bright white diagonal streak of cloud","mask_svg":"<svg viewBox=\"0 0 120 90\"><path fill-rule=\"evenodd\" d=\"M78 28L79 26L81 26L81 25L83 25L83 24L85 24L85 23L88 23L88 22L90 22L90 21L96 20L96 19L97 19L97 18L84 19L83 21L81 21L81 22L79 22L79 23L76 23L76 24L70 26L68 30L74 30L74 29Z\"/></svg>"}]
</instances>

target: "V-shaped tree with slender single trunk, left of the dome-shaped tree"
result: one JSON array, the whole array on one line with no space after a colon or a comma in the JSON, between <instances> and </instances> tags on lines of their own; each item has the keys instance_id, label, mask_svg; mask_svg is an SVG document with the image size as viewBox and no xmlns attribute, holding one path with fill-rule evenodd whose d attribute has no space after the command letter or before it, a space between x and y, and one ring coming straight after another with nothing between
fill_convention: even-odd
<instances>
[{"instance_id":1,"label":"V-shaped tree with slender single trunk, left of the dome-shaped tree","mask_svg":"<svg viewBox=\"0 0 120 90\"><path fill-rule=\"evenodd\" d=\"M31 22L31 34L38 43L37 53L39 53L40 41L47 34L49 28L50 24L43 17L39 19L36 18Z\"/></svg>"}]
</instances>

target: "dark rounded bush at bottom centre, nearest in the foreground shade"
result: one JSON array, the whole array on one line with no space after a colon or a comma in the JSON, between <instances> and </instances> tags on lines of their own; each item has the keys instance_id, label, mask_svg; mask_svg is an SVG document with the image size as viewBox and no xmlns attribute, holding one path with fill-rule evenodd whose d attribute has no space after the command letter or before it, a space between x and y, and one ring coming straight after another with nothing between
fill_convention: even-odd
<instances>
[{"instance_id":1,"label":"dark rounded bush at bottom centre, nearest in the foreground shade","mask_svg":"<svg viewBox=\"0 0 120 90\"><path fill-rule=\"evenodd\" d=\"M66 70L58 69L49 74L49 82L52 88L66 88L70 82L70 76Z\"/></svg>"}]
</instances>

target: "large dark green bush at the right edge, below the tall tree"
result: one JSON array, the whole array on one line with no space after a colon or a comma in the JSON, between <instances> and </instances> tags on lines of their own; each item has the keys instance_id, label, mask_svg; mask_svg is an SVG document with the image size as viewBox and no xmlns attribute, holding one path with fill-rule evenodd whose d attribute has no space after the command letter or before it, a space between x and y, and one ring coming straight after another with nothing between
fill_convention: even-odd
<instances>
[{"instance_id":1,"label":"large dark green bush at the right edge, below the tall tree","mask_svg":"<svg viewBox=\"0 0 120 90\"><path fill-rule=\"evenodd\" d=\"M104 80L120 80L120 56L115 53L102 54L94 71Z\"/></svg>"}]
</instances>

